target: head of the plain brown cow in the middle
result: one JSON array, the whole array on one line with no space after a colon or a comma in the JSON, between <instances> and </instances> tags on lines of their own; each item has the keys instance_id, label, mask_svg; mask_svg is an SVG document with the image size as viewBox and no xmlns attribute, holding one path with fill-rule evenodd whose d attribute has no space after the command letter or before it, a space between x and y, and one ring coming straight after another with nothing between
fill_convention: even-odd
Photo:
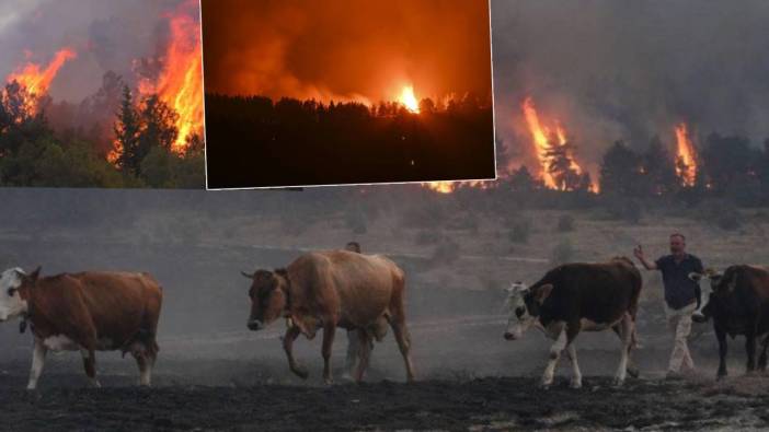
<instances>
[{"instance_id":1,"label":"head of the plain brown cow in the middle","mask_svg":"<svg viewBox=\"0 0 769 432\"><path fill-rule=\"evenodd\" d=\"M256 270L253 275L244 271L243 277L251 280L251 315L248 327L261 330L283 316L288 307L288 273L286 270Z\"/></svg>"}]
</instances>

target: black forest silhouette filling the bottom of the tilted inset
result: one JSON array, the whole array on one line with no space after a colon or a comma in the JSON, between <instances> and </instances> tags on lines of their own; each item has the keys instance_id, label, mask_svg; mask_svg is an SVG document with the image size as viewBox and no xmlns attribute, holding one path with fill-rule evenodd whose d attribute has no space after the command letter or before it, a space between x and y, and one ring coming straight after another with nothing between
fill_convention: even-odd
<instances>
[{"instance_id":1,"label":"black forest silhouette filling the bottom of the tilted inset","mask_svg":"<svg viewBox=\"0 0 769 432\"><path fill-rule=\"evenodd\" d=\"M214 187L298 186L494 175L490 103L467 95L420 114L398 103L206 95Z\"/></svg>"}]
</instances>

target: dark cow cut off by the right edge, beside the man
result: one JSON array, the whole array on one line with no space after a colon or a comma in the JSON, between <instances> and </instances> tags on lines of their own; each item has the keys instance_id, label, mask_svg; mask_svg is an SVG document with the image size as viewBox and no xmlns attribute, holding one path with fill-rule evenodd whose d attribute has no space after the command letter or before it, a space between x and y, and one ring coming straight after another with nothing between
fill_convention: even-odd
<instances>
[{"instance_id":1,"label":"dark cow cut off by the right edge, beside the man","mask_svg":"<svg viewBox=\"0 0 769 432\"><path fill-rule=\"evenodd\" d=\"M756 340L761 340L758 369L765 371L769 345L769 272L760 267L739 265L723 273L708 271L689 277L696 281L710 279L709 300L695 312L692 320L704 323L713 318L720 355L716 377L726 376L726 335L732 339L745 336L748 373L756 370ZM708 289L703 291L707 293Z\"/></svg>"}]
</instances>

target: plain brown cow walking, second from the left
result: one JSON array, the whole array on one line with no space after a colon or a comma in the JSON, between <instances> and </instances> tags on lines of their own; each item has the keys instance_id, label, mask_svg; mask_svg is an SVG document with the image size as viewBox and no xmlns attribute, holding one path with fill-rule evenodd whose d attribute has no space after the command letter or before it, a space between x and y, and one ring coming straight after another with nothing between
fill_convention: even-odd
<instances>
[{"instance_id":1,"label":"plain brown cow walking, second from the left","mask_svg":"<svg viewBox=\"0 0 769 432\"><path fill-rule=\"evenodd\" d=\"M312 339L323 328L323 378L332 383L331 347L336 327L342 327L366 330L358 331L361 348L355 380L360 381L368 365L372 334L384 317L405 361L406 378L414 380L403 307L404 273L390 259L348 250L312 252L286 269L242 275L252 280L249 329L261 330L282 316L288 318L291 325L284 337L284 349L291 372L298 376L307 378L308 373L294 359L294 340L300 334Z\"/></svg>"}]
</instances>

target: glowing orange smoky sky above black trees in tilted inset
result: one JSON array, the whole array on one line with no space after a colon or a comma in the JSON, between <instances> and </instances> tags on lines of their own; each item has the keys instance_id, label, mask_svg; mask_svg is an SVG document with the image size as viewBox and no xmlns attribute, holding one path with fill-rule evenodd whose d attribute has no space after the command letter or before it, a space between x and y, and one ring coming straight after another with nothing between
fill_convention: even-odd
<instances>
[{"instance_id":1,"label":"glowing orange smoky sky above black trees in tilted inset","mask_svg":"<svg viewBox=\"0 0 769 432\"><path fill-rule=\"evenodd\" d=\"M491 95L485 0L204 0L206 90L392 101Z\"/></svg>"}]
</instances>

